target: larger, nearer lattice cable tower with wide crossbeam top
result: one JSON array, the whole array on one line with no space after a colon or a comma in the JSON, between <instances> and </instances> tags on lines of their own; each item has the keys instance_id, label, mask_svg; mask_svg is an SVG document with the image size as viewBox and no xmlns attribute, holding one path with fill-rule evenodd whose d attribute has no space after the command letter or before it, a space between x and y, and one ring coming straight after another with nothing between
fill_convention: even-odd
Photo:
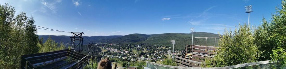
<instances>
[{"instance_id":1,"label":"larger, nearer lattice cable tower with wide crossbeam top","mask_svg":"<svg viewBox=\"0 0 286 69\"><path fill-rule=\"evenodd\" d=\"M82 33L73 33L72 32L72 37L71 37L71 50L76 51L78 53L82 53L83 48L82 48L82 41L84 38L82 38Z\"/></svg>"}]
</instances>

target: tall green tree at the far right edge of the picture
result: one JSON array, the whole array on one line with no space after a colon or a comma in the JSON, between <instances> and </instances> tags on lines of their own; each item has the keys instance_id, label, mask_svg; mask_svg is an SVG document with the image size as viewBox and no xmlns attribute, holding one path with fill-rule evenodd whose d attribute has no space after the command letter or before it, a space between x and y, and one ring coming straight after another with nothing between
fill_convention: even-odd
<instances>
[{"instance_id":1,"label":"tall green tree at the far right edge of the picture","mask_svg":"<svg viewBox=\"0 0 286 69\"><path fill-rule=\"evenodd\" d=\"M267 22L265 18L255 30L255 44L260 51L264 51L259 58L260 61L272 60L286 64L286 0L282 0L281 8L275 8L277 11L272 14L271 21Z\"/></svg>"}]
</instances>

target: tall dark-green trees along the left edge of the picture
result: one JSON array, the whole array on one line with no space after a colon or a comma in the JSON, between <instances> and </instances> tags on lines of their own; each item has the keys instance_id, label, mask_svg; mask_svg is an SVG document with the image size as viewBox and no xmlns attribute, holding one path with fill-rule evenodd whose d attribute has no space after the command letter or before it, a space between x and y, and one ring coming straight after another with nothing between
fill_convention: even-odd
<instances>
[{"instance_id":1,"label":"tall dark-green trees along the left edge of the picture","mask_svg":"<svg viewBox=\"0 0 286 69\"><path fill-rule=\"evenodd\" d=\"M20 65L21 55L38 52L37 29L33 25L23 26L23 22L34 24L35 20L25 12L15 16L15 8L8 3L0 5L0 15L0 68L15 69Z\"/></svg>"}]
</instances>

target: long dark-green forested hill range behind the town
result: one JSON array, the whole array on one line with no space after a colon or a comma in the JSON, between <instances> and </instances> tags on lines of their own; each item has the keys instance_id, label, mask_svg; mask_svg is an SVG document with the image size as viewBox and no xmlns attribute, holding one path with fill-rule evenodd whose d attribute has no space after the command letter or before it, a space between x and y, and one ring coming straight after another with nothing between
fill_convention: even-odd
<instances>
[{"instance_id":1,"label":"long dark-green forested hill range behind the town","mask_svg":"<svg viewBox=\"0 0 286 69\"><path fill-rule=\"evenodd\" d=\"M55 40L55 42L64 42L70 43L70 36L54 36L50 35L51 39ZM47 40L49 35L39 35L39 38L43 37L44 42ZM218 34L214 33L205 33L205 32L196 32L194 33L194 37L219 37ZM84 36L84 42L88 43L88 39L92 42L104 42L104 43L126 43L126 44L152 44L152 45L162 45L162 46L170 46L170 40L175 40L176 45L178 46L186 46L190 45L192 41L191 33L164 33L164 34L130 34L125 36ZM216 40L217 41L217 40ZM197 38L197 44L205 44L205 38ZM208 39L207 45L214 45L214 39Z\"/></svg>"}]
</instances>

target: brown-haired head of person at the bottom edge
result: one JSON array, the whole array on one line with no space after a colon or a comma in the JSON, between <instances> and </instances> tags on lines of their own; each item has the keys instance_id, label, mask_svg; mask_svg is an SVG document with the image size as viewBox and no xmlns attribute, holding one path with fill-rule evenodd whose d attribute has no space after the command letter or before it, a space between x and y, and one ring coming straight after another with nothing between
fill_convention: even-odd
<instances>
[{"instance_id":1,"label":"brown-haired head of person at the bottom edge","mask_svg":"<svg viewBox=\"0 0 286 69\"><path fill-rule=\"evenodd\" d=\"M111 62L109 58L101 59L101 61L97 65L97 69L112 69Z\"/></svg>"}]
</instances>

